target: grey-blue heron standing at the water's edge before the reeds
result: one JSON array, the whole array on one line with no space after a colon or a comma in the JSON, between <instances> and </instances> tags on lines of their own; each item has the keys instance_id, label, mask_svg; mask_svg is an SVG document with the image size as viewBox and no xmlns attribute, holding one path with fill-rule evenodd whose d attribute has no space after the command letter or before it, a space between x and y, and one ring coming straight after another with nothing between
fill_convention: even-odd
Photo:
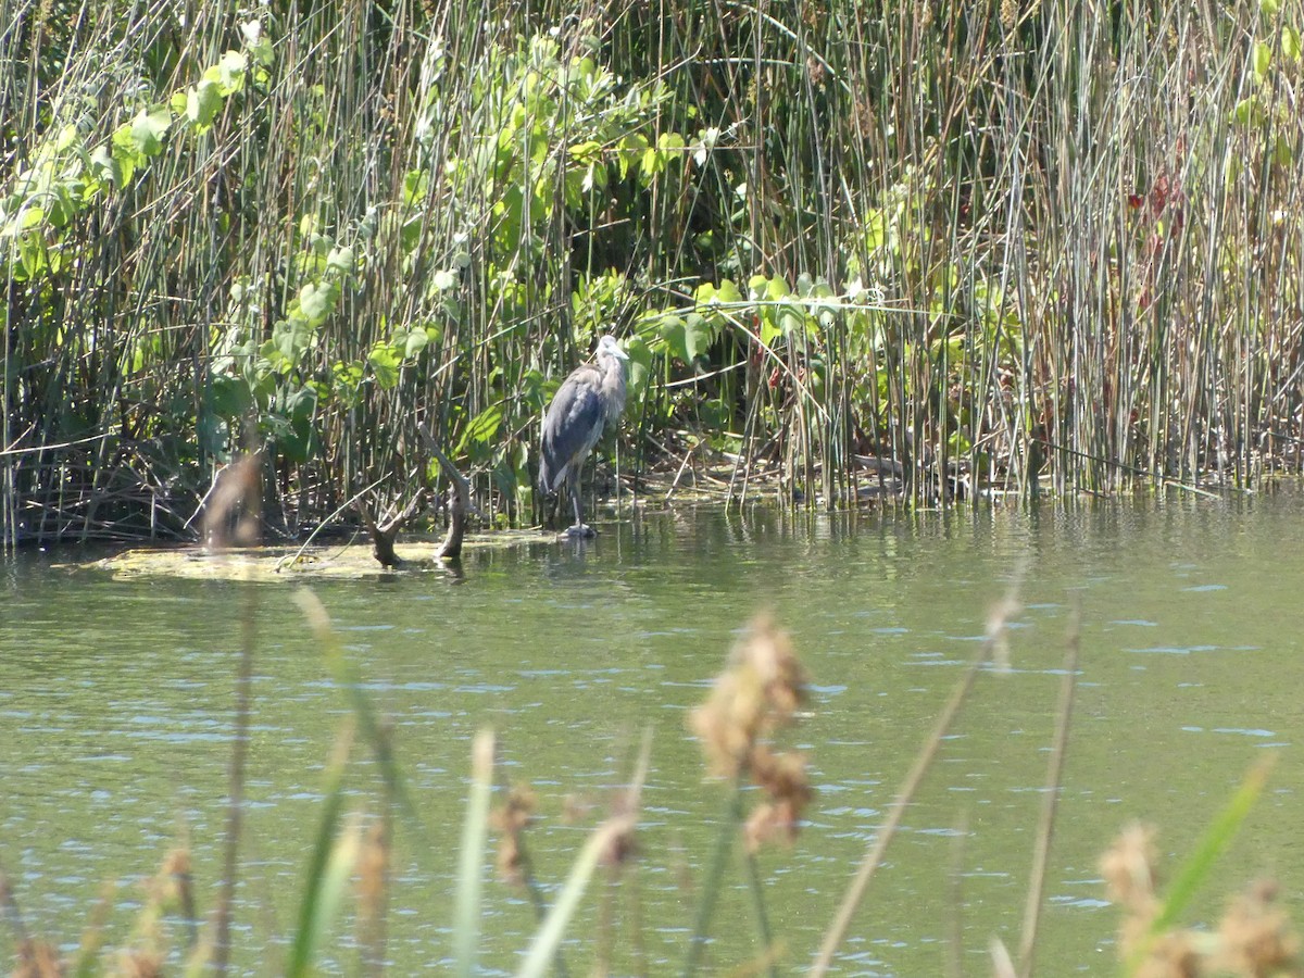
<instances>
[{"instance_id":1,"label":"grey-blue heron standing at the water's edge before the reeds","mask_svg":"<svg viewBox=\"0 0 1304 978\"><path fill-rule=\"evenodd\" d=\"M571 370L544 415L539 486L549 494L567 484L575 506L575 526L566 531L570 536L593 536L580 516L579 473L602 437L602 429L615 424L625 411L622 361L629 359L615 336L602 336L597 342L596 363Z\"/></svg>"}]
</instances>

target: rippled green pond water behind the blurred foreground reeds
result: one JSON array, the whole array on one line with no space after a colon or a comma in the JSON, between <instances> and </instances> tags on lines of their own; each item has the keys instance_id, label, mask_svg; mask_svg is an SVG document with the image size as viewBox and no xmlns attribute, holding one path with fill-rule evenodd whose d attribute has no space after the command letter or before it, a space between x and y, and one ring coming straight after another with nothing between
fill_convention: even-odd
<instances>
[{"instance_id":1,"label":"rippled green pond water behind the blurred foreground reeds","mask_svg":"<svg viewBox=\"0 0 1304 978\"><path fill-rule=\"evenodd\" d=\"M985 673L908 810L838 957L842 973L940 974L958 928L966 971L1012 949L1043 798L1072 592L1078 689L1047 880L1043 973L1114 968L1115 909L1097 862L1128 822L1159 828L1172 870L1248 768L1278 752L1267 792L1189 922L1271 874L1304 887L1300 647L1304 499L1172 497L1072 511L793 515L678 510L588 545L476 552L460 580L416 574L314 591L394 724L429 840L398 822L389 956L396 974L451 953L451 892L469 745L492 726L498 775L537 798L529 829L552 892L652 755L640 858L596 885L567 944L587 973L612 887L614 970L678 968L724 806L686 729L758 609L772 609L811 677L782 735L816 795L792 849L762 852L782 965L810 961L941 704L978 651L988 608L1025 567L1013 669ZM83 554L73 554L73 558ZM349 713L291 584L117 580L23 553L0 563L0 868L30 931L76 947L115 884L111 939L141 876L188 837L201 908L220 875L241 622L257 636L236 961L275 971L318 824L326 760ZM365 750L351 805L376 812ZM501 794L501 793L499 793ZM748 803L751 799L748 799ZM579 811L575 815L575 811ZM484 966L510 973L535 926L485 865ZM732 863L707 952L750 962L751 905ZM1299 917L1299 914L1296 914ZM642 931L642 938L631 934ZM347 914L322 961L357 970ZM0 934L12 955L13 935ZM276 948L280 947L282 951ZM270 952L266 948L271 948Z\"/></svg>"}]
</instances>

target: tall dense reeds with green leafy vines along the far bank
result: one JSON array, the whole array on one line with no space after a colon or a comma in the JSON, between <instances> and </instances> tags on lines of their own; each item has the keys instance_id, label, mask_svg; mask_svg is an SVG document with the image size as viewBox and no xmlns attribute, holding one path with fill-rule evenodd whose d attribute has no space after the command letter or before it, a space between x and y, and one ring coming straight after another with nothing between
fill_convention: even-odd
<instances>
[{"instance_id":1,"label":"tall dense reeds with green leafy vines along the far bank","mask_svg":"<svg viewBox=\"0 0 1304 978\"><path fill-rule=\"evenodd\" d=\"M472 475L556 383L730 502L1301 464L1294 0L0 0L0 512L184 536ZM347 510L346 510L347 511Z\"/></svg>"}]
</instances>

